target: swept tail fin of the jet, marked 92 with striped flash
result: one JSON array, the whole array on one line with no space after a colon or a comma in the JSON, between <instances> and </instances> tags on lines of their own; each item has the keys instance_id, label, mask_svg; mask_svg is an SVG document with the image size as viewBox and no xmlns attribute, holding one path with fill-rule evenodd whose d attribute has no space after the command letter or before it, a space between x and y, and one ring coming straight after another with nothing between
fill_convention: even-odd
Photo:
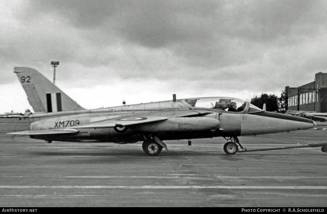
<instances>
[{"instance_id":1,"label":"swept tail fin of the jet, marked 92 with striped flash","mask_svg":"<svg viewBox=\"0 0 327 214\"><path fill-rule=\"evenodd\" d=\"M39 71L28 67L15 67L14 72L21 82L34 112L61 112L84 109Z\"/></svg>"}]
</instances>

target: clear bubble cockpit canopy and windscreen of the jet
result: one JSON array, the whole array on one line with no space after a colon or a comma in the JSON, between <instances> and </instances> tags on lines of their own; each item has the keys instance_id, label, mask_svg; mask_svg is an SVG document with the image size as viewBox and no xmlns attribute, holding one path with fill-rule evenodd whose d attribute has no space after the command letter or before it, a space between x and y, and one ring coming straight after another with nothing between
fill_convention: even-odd
<instances>
[{"instance_id":1,"label":"clear bubble cockpit canopy and windscreen of the jet","mask_svg":"<svg viewBox=\"0 0 327 214\"><path fill-rule=\"evenodd\" d=\"M221 111L253 113L261 112L262 109L250 104L247 112L244 112L246 100L231 97L206 97L206 98L189 98L184 99L185 102L195 108L211 108Z\"/></svg>"}]
</instances>

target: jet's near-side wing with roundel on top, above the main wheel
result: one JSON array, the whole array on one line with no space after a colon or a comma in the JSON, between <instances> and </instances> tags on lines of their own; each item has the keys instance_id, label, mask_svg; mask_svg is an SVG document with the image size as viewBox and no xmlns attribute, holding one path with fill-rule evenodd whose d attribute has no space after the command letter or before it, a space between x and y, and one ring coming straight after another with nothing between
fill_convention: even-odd
<instances>
[{"instance_id":1,"label":"jet's near-side wing with roundel on top, above the main wheel","mask_svg":"<svg viewBox=\"0 0 327 214\"><path fill-rule=\"evenodd\" d=\"M101 129L101 128L113 128L113 127L122 127L122 126L131 126L142 123L158 122L167 120L167 117L117 117L109 120L104 120L101 122L91 123L88 125L74 126L75 129Z\"/></svg>"}]
</instances>

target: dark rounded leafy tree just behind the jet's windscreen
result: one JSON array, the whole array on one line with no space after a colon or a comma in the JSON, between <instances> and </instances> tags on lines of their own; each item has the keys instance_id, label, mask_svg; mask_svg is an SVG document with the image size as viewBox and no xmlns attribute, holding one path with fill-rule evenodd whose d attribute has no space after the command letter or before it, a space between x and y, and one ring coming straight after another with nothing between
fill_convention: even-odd
<instances>
[{"instance_id":1,"label":"dark rounded leafy tree just behind the jet's windscreen","mask_svg":"<svg viewBox=\"0 0 327 214\"><path fill-rule=\"evenodd\" d=\"M255 96L251 99L251 104L263 108L264 103L266 103L266 110L268 112L278 112L279 110L279 98L274 94L264 94L262 93L260 97Z\"/></svg>"}]
</instances>

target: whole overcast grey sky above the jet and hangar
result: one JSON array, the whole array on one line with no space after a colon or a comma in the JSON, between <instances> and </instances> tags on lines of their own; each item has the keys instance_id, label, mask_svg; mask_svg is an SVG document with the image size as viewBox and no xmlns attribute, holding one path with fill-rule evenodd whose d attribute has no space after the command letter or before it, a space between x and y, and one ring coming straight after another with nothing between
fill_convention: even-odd
<instances>
[{"instance_id":1,"label":"whole overcast grey sky above the jet and hangar","mask_svg":"<svg viewBox=\"0 0 327 214\"><path fill-rule=\"evenodd\" d=\"M0 114L32 108L13 73L32 67L92 109L261 93L327 72L327 1L0 2Z\"/></svg>"}]
</instances>

